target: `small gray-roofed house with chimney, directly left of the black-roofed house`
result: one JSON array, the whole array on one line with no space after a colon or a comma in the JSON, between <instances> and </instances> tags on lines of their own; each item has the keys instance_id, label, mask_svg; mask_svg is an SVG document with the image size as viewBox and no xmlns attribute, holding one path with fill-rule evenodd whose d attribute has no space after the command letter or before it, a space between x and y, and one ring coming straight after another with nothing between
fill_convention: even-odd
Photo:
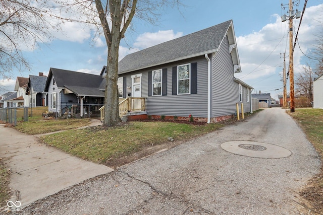
<instances>
[{"instance_id":1,"label":"small gray-roofed house with chimney, directly left of the black-roofed house","mask_svg":"<svg viewBox=\"0 0 323 215\"><path fill-rule=\"evenodd\" d=\"M46 106L47 93L44 92L47 77L43 73L39 76L29 76L26 94L29 95L29 107Z\"/></svg>"}]
</instances>

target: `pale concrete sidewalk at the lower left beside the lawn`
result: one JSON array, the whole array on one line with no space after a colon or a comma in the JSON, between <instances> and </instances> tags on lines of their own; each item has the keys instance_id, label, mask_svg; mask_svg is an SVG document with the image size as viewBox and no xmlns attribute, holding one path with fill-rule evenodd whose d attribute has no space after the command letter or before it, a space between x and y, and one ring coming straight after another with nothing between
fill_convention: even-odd
<instances>
[{"instance_id":1,"label":"pale concrete sidewalk at the lower left beside the lawn","mask_svg":"<svg viewBox=\"0 0 323 215\"><path fill-rule=\"evenodd\" d=\"M11 201L21 207L97 175L112 172L42 144L37 137L0 124L0 157L12 175ZM17 196L19 195L19 197Z\"/></svg>"}]
</instances>

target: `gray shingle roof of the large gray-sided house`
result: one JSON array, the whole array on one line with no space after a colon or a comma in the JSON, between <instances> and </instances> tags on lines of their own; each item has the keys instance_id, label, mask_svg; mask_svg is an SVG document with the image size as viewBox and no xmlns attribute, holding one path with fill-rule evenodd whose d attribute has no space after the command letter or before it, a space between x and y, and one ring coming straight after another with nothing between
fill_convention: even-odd
<instances>
[{"instance_id":1,"label":"gray shingle roof of the large gray-sided house","mask_svg":"<svg viewBox=\"0 0 323 215\"><path fill-rule=\"evenodd\" d=\"M174 62L217 50L232 20L170 40L125 56L119 62L119 74Z\"/></svg>"}]
</instances>

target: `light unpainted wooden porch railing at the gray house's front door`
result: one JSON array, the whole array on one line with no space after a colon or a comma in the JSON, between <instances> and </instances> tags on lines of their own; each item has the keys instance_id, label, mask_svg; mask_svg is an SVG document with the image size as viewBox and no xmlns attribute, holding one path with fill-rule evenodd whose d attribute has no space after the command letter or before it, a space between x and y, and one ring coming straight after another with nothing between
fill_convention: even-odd
<instances>
[{"instance_id":1,"label":"light unpainted wooden porch railing at the gray house's front door","mask_svg":"<svg viewBox=\"0 0 323 215\"><path fill-rule=\"evenodd\" d=\"M126 98L119 103L119 115L120 117L124 116L126 113L144 111L146 109L145 98L140 97L130 97ZM100 109L100 120L104 120L104 106Z\"/></svg>"}]
</instances>

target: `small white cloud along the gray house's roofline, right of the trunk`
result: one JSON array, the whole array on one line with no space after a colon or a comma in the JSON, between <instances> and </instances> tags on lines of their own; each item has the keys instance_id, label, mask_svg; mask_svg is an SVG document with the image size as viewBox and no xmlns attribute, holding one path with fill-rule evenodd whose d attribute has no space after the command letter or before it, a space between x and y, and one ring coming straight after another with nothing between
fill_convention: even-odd
<instances>
[{"instance_id":1,"label":"small white cloud along the gray house's roofline, right of the trunk","mask_svg":"<svg viewBox=\"0 0 323 215\"><path fill-rule=\"evenodd\" d=\"M140 34L133 45L138 49L145 49L181 36L183 36L182 32L174 34L173 30L158 31L153 33L146 32Z\"/></svg>"}]
</instances>

